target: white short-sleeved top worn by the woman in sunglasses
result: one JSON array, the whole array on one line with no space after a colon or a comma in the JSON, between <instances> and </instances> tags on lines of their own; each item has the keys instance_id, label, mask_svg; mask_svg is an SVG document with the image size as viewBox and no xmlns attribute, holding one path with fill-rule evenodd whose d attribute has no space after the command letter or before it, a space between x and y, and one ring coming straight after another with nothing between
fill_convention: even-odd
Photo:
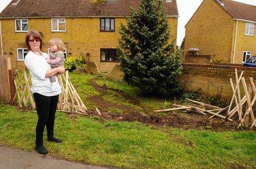
<instances>
[{"instance_id":1,"label":"white short-sleeved top worn by the woman in sunglasses","mask_svg":"<svg viewBox=\"0 0 256 169\"><path fill-rule=\"evenodd\" d=\"M56 96L61 94L61 88L57 78L55 82L50 82L50 79L46 78L46 71L51 69L51 65L46 61L47 56L47 53L40 56L30 51L25 57L25 65L30 70L32 79L31 92L44 96Z\"/></svg>"}]
</instances>

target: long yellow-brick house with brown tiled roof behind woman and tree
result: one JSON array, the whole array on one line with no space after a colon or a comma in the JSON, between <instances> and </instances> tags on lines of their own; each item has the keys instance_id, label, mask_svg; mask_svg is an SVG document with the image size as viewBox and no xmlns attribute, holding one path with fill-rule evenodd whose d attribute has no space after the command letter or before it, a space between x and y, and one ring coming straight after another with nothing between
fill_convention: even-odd
<instances>
[{"instance_id":1,"label":"long yellow-brick house with brown tiled roof behind woman and tree","mask_svg":"<svg viewBox=\"0 0 256 169\"><path fill-rule=\"evenodd\" d=\"M94 1L95 2L95 1ZM43 51L48 41L57 37L64 41L67 57L86 57L101 72L109 72L119 64L118 46L120 22L125 23L130 8L139 7L139 0L13 0L0 14L1 50L11 56L16 69L24 69L28 50L24 37L28 30L42 33ZM168 22L170 41L177 37L178 11L176 0L163 0Z\"/></svg>"}]
</instances>

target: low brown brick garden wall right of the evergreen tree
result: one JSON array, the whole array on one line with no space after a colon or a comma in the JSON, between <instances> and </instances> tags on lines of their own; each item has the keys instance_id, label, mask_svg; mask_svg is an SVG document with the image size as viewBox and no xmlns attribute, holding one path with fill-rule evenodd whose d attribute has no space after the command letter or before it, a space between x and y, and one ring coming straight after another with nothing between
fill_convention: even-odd
<instances>
[{"instance_id":1,"label":"low brown brick garden wall right of the evergreen tree","mask_svg":"<svg viewBox=\"0 0 256 169\"><path fill-rule=\"evenodd\" d=\"M243 77L248 84L249 77L256 79L256 67L243 67L233 65L203 65L203 64L183 64L183 73L179 77L179 82L187 90L198 90L201 88L205 94L216 95L221 92L226 98L233 95L229 78L235 81L234 70L238 70L238 76L244 71ZM254 81L256 84L256 81ZM242 95L243 86L240 83Z\"/></svg>"}]
</instances>

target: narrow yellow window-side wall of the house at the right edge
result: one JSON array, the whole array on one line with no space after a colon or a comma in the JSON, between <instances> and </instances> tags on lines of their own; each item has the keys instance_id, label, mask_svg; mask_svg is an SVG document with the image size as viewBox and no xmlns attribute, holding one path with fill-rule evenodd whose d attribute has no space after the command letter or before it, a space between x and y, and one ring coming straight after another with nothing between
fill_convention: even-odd
<instances>
[{"instance_id":1,"label":"narrow yellow window-side wall of the house at the right edge","mask_svg":"<svg viewBox=\"0 0 256 169\"><path fill-rule=\"evenodd\" d=\"M236 23L234 21L234 23ZM251 51L251 56L256 56L256 25L254 26L254 36L245 35L246 22L238 22L237 44L234 57L234 64L242 64L243 51Z\"/></svg>"}]
</instances>

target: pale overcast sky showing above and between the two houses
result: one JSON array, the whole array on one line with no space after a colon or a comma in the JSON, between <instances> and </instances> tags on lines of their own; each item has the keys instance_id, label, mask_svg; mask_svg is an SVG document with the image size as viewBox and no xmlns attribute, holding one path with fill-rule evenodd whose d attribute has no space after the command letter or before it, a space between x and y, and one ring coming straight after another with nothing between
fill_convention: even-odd
<instances>
[{"instance_id":1,"label":"pale overcast sky showing above and between the two houses","mask_svg":"<svg viewBox=\"0 0 256 169\"><path fill-rule=\"evenodd\" d=\"M0 11L5 9L5 7L11 2L11 0L0 0ZM243 3L248 3L250 5L256 6L256 0L236 0ZM183 37L185 36L185 24L194 14L199 5L203 0L177 0L177 6L179 10L179 24L177 32L177 45L181 44Z\"/></svg>"}]
</instances>

